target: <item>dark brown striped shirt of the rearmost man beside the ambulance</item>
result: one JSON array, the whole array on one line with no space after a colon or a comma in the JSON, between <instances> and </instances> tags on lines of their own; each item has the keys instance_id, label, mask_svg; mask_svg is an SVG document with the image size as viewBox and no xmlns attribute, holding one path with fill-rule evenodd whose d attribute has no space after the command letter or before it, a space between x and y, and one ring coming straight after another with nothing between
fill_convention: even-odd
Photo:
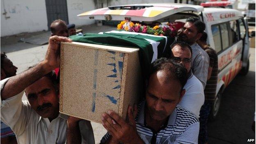
<instances>
[{"instance_id":1,"label":"dark brown striped shirt of the rearmost man beside the ambulance","mask_svg":"<svg viewBox=\"0 0 256 144\"><path fill-rule=\"evenodd\" d=\"M206 88L204 89L204 95L205 100L209 103L212 103L216 96L216 88L218 82L218 55L214 49L210 48L210 46L204 50L210 58L209 67L213 68L210 79L207 80Z\"/></svg>"}]
</instances>

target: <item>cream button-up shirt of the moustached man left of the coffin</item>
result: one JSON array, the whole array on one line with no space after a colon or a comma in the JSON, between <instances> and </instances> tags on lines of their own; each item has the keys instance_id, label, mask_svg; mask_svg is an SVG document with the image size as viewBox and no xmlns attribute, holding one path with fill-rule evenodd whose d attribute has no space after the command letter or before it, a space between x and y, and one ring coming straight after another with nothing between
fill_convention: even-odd
<instances>
[{"instance_id":1,"label":"cream button-up shirt of the moustached man left of the coffin","mask_svg":"<svg viewBox=\"0 0 256 144\"><path fill-rule=\"evenodd\" d=\"M9 78L1 80L1 91ZM59 114L56 119L39 116L28 101L21 101L24 91L6 100L1 99L1 121L14 131L18 144L64 144L66 143L67 118ZM94 144L89 121L79 122L82 143Z\"/></svg>"}]
</instances>

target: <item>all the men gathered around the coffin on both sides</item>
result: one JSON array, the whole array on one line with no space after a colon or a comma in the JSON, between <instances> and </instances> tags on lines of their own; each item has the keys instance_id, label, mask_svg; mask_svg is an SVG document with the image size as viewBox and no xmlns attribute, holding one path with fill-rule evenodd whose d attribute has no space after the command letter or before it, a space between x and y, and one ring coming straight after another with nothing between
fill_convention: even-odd
<instances>
[{"instance_id":1,"label":"all the men gathered around the coffin on both sides","mask_svg":"<svg viewBox=\"0 0 256 144\"><path fill-rule=\"evenodd\" d=\"M45 59L21 74L16 75L17 67L1 52L1 142L95 143L89 121L59 113L59 42L72 42L67 37L75 34L74 27L53 21ZM199 18L187 19L169 47L169 57L153 62L145 99L129 105L128 121L112 110L102 114L107 130L102 144L207 143L218 67L204 30ZM24 92L28 101L21 100ZM15 135L3 138L2 124Z\"/></svg>"}]
</instances>

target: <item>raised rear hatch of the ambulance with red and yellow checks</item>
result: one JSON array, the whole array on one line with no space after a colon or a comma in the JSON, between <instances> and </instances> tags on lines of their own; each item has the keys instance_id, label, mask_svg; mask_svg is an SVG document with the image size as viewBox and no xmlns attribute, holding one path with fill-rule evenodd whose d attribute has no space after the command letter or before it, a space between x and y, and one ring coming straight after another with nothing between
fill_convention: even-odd
<instances>
[{"instance_id":1,"label":"raised rear hatch of the ambulance with red and yellow checks","mask_svg":"<svg viewBox=\"0 0 256 144\"><path fill-rule=\"evenodd\" d=\"M87 11L78 16L85 19L123 21L157 21L172 14L183 11L203 11L203 7L199 5L187 5L177 3L152 3L152 4L135 4L135 5L120 5L106 7Z\"/></svg>"}]
</instances>

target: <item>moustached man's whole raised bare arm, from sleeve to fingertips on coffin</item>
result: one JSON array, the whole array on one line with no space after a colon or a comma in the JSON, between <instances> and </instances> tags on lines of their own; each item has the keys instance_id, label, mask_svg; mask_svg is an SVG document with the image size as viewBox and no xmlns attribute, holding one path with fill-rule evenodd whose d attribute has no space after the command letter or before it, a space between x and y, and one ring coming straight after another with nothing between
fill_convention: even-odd
<instances>
[{"instance_id":1,"label":"moustached man's whole raised bare arm, from sleeve to fingertips on coffin","mask_svg":"<svg viewBox=\"0 0 256 144\"><path fill-rule=\"evenodd\" d=\"M61 41L72 42L67 37L50 37L45 59L31 69L10 78L1 90L1 99L5 100L21 93L26 87L42 78L43 75L59 67L59 43Z\"/></svg>"}]
</instances>

